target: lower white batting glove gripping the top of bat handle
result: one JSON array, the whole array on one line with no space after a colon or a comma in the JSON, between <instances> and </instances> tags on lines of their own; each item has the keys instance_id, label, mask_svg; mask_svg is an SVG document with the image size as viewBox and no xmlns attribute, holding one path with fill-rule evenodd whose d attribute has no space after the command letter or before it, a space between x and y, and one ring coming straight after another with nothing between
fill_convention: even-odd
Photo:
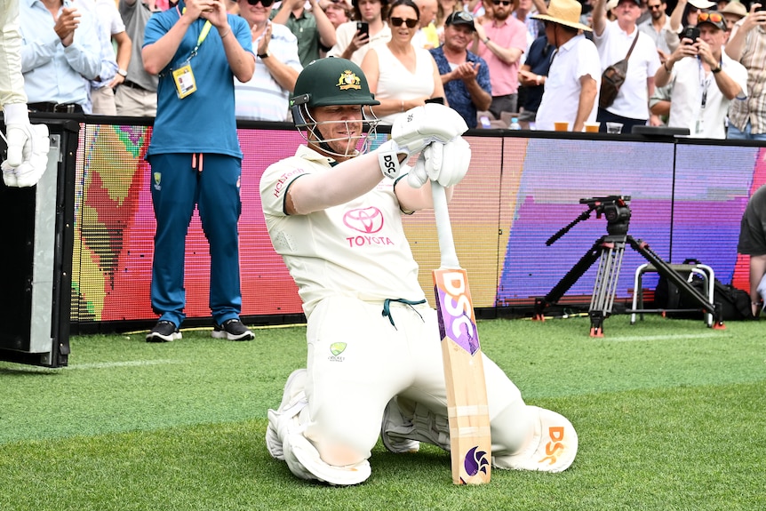
<instances>
[{"instance_id":1,"label":"lower white batting glove gripping the top of bat handle","mask_svg":"<svg viewBox=\"0 0 766 511\"><path fill-rule=\"evenodd\" d=\"M471 164L471 147L462 137L447 144L432 142L420 153L418 161L407 175L412 188L420 188L427 180L436 181L443 187L457 185L468 172Z\"/></svg>"}]
</instances>

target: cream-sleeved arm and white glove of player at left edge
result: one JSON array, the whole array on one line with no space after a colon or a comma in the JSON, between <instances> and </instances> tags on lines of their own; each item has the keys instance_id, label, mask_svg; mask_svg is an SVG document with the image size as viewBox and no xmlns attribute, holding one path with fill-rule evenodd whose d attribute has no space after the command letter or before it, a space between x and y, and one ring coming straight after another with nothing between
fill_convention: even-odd
<instances>
[{"instance_id":1,"label":"cream-sleeved arm and white glove of player at left edge","mask_svg":"<svg viewBox=\"0 0 766 511\"><path fill-rule=\"evenodd\" d=\"M3 108L8 159L0 166L8 187L31 187L48 164L48 128L29 124L27 94L21 76L19 0L0 0L0 106Z\"/></svg>"}]
</instances>

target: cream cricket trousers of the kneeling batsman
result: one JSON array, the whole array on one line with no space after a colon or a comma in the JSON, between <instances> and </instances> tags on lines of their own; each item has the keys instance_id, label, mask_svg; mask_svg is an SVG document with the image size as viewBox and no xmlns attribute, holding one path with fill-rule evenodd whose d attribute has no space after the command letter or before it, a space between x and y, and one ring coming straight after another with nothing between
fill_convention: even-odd
<instances>
[{"instance_id":1,"label":"cream cricket trousers of the kneeling batsman","mask_svg":"<svg viewBox=\"0 0 766 511\"><path fill-rule=\"evenodd\" d=\"M395 395L446 417L442 347L436 312L427 304L382 304L323 299L307 324L307 422L304 436L319 451L342 446L368 459L378 441L383 411ZM493 450L515 452L528 435L521 393L496 363L483 355ZM499 417L504 416L504 417ZM497 419L497 420L496 420Z\"/></svg>"}]
</instances>

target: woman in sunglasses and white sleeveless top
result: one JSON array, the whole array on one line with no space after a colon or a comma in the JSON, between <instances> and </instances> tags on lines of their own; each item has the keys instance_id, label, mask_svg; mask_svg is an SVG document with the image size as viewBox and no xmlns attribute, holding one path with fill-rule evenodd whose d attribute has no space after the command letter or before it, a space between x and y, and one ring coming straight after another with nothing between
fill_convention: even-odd
<instances>
[{"instance_id":1,"label":"woman in sunglasses and white sleeveless top","mask_svg":"<svg viewBox=\"0 0 766 511\"><path fill-rule=\"evenodd\" d=\"M444 86L431 54L412 45L420 12L412 0L396 0L388 13L391 40L371 48L362 70L370 91L380 105L372 108L380 124L393 124L396 116L425 105L429 99L444 100Z\"/></svg>"}]
</instances>

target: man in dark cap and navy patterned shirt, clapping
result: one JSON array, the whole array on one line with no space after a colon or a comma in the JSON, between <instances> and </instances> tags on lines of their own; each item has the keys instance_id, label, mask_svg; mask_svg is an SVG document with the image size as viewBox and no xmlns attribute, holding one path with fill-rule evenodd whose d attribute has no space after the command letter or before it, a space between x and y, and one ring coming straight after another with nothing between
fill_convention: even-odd
<instances>
[{"instance_id":1,"label":"man in dark cap and navy patterned shirt, clapping","mask_svg":"<svg viewBox=\"0 0 766 511\"><path fill-rule=\"evenodd\" d=\"M430 50L444 84L444 95L469 128L476 127L476 111L490 108L492 85L487 63L467 50L474 39L474 18L452 12L444 21L444 44Z\"/></svg>"}]
</instances>

